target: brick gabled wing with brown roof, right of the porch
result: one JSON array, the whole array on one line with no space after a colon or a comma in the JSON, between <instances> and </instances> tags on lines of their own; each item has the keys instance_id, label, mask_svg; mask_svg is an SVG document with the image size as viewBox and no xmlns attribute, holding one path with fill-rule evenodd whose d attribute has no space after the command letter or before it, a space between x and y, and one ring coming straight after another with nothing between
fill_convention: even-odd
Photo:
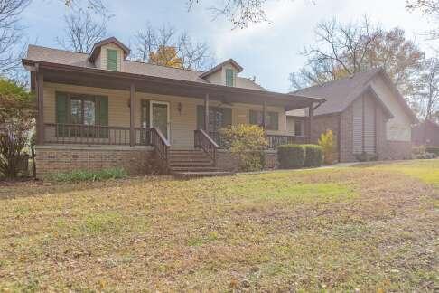
<instances>
[{"instance_id":1,"label":"brick gabled wing with brown roof, right of the porch","mask_svg":"<svg viewBox=\"0 0 439 293\"><path fill-rule=\"evenodd\" d=\"M326 99L310 115L311 141L331 129L339 161L356 161L362 154L378 159L411 157L411 126L417 119L384 70L360 72L294 94ZM306 115L304 110L287 112L290 128Z\"/></svg>"}]
</instances>

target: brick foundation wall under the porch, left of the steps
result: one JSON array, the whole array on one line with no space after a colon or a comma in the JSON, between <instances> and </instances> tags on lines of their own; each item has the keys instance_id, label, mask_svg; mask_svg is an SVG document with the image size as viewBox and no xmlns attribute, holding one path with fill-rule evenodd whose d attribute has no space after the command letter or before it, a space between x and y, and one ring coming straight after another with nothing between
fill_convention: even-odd
<instances>
[{"instance_id":1,"label":"brick foundation wall under the porch, left of the steps","mask_svg":"<svg viewBox=\"0 0 439 293\"><path fill-rule=\"evenodd\" d=\"M130 175L147 174L154 162L153 151L145 147L37 146L37 175L73 170L123 167Z\"/></svg>"}]
</instances>

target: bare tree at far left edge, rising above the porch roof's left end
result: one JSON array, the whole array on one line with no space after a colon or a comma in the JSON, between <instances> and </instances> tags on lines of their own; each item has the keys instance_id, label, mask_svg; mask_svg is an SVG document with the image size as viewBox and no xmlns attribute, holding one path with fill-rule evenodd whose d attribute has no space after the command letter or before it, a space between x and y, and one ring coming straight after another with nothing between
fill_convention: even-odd
<instances>
[{"instance_id":1,"label":"bare tree at far left edge, rising above the porch roof's left end","mask_svg":"<svg viewBox=\"0 0 439 293\"><path fill-rule=\"evenodd\" d=\"M0 0L0 75L15 71L23 56L20 14L31 0Z\"/></svg>"}]
</instances>

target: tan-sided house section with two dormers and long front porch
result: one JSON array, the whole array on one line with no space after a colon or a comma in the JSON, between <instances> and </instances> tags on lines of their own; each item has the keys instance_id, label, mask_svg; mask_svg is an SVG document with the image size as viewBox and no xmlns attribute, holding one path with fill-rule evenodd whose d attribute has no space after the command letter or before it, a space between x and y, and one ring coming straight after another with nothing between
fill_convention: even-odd
<instances>
[{"instance_id":1,"label":"tan-sided house section with two dormers and long front porch","mask_svg":"<svg viewBox=\"0 0 439 293\"><path fill-rule=\"evenodd\" d=\"M263 89L239 76L232 59L210 71L130 61L116 38L79 53L30 45L23 66L38 98L38 174L124 166L142 174L154 162L174 173L235 169L218 130L258 124L266 129L266 162L278 144L309 141L287 129L285 111L324 102ZM271 149L271 151L270 151Z\"/></svg>"}]
</instances>

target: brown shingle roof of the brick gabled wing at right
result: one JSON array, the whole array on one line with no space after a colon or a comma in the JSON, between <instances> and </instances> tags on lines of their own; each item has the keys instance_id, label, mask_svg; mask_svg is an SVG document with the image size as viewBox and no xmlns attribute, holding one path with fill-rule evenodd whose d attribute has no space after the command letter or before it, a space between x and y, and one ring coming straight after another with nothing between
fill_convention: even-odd
<instances>
[{"instance_id":1,"label":"brown shingle roof of the brick gabled wing at right","mask_svg":"<svg viewBox=\"0 0 439 293\"><path fill-rule=\"evenodd\" d=\"M326 99L325 103L315 109L314 115L316 116L341 113L366 90L371 90L376 95L374 90L370 87L369 81L375 78L378 74L382 74L383 78L392 88L391 90L395 92L397 101L403 106L407 116L415 123L417 121L415 114L408 107L406 100L401 96L393 82L388 77L388 74L381 68L355 73L347 78L332 80L323 83L322 85L316 85L303 90L296 90L294 91L294 94ZM379 97L376 96L376 98L379 101ZM381 106L384 106L384 103L381 102ZM386 110L388 111L388 109Z\"/></svg>"}]
</instances>

